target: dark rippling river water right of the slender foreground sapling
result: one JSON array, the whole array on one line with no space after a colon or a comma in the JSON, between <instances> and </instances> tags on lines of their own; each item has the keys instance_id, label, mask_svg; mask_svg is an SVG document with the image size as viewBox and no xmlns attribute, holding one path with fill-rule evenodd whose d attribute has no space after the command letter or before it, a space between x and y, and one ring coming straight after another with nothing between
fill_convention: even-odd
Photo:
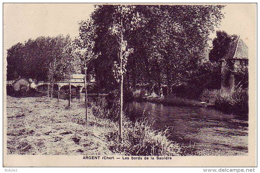
<instances>
[{"instance_id":1,"label":"dark rippling river water right of the slender foreground sapling","mask_svg":"<svg viewBox=\"0 0 260 173\"><path fill-rule=\"evenodd\" d=\"M248 121L207 107L163 106L150 102L125 103L133 118L144 115L152 128L171 130L172 140L201 148L248 152Z\"/></svg>"}]
</instances>

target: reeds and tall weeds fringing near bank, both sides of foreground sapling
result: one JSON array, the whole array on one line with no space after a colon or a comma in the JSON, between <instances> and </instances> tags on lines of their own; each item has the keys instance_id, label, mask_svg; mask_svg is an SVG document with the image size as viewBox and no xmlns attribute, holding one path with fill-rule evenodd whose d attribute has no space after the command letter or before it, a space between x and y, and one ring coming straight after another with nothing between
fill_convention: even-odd
<instances>
[{"instance_id":1,"label":"reeds and tall weeds fringing near bank, both sides of foreground sapling","mask_svg":"<svg viewBox=\"0 0 260 173\"><path fill-rule=\"evenodd\" d=\"M112 151L119 151L132 156L177 156L180 155L180 146L168 139L168 129L155 131L151 129L151 121L146 117L131 121L128 114L123 118L123 142L118 138L119 104L116 99L106 100L97 98L91 107L95 117L100 121L112 120L116 129L107 135ZM144 110L145 111L145 110Z\"/></svg>"}]
</instances>

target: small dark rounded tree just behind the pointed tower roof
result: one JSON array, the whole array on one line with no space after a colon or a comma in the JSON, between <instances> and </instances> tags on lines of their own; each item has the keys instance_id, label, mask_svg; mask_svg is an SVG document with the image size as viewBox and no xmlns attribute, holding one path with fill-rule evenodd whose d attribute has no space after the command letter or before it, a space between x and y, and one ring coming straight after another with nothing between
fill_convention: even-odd
<instances>
[{"instance_id":1,"label":"small dark rounded tree just behind the pointed tower roof","mask_svg":"<svg viewBox=\"0 0 260 173\"><path fill-rule=\"evenodd\" d=\"M217 31L216 38L212 41L213 48L209 53L209 60L217 62L223 58L228 50L230 43L237 39L237 35L229 35L225 31Z\"/></svg>"}]
</instances>

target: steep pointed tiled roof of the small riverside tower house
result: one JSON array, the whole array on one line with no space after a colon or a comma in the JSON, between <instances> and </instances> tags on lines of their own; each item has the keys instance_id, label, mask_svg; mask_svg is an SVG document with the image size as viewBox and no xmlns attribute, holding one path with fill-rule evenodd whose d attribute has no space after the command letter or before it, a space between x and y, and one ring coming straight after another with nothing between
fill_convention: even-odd
<instances>
[{"instance_id":1,"label":"steep pointed tiled roof of the small riverside tower house","mask_svg":"<svg viewBox=\"0 0 260 173\"><path fill-rule=\"evenodd\" d=\"M248 47L239 37L230 43L230 49L222 59L248 59Z\"/></svg>"}]
</instances>

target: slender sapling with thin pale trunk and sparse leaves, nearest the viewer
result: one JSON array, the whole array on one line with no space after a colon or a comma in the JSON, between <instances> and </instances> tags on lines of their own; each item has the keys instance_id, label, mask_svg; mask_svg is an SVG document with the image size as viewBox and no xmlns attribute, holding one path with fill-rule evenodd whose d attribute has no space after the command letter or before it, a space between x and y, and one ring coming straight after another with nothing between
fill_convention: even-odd
<instances>
[{"instance_id":1,"label":"slender sapling with thin pale trunk and sparse leaves, nearest the viewer","mask_svg":"<svg viewBox=\"0 0 260 173\"><path fill-rule=\"evenodd\" d=\"M114 62L114 77L120 88L120 117L119 117L119 139L123 139L123 79L126 73L128 56L133 53L133 48L127 48L127 34L140 26L141 15L135 12L135 6L115 6L113 23L109 28L111 34L116 37L118 43L118 61Z\"/></svg>"}]
</instances>

